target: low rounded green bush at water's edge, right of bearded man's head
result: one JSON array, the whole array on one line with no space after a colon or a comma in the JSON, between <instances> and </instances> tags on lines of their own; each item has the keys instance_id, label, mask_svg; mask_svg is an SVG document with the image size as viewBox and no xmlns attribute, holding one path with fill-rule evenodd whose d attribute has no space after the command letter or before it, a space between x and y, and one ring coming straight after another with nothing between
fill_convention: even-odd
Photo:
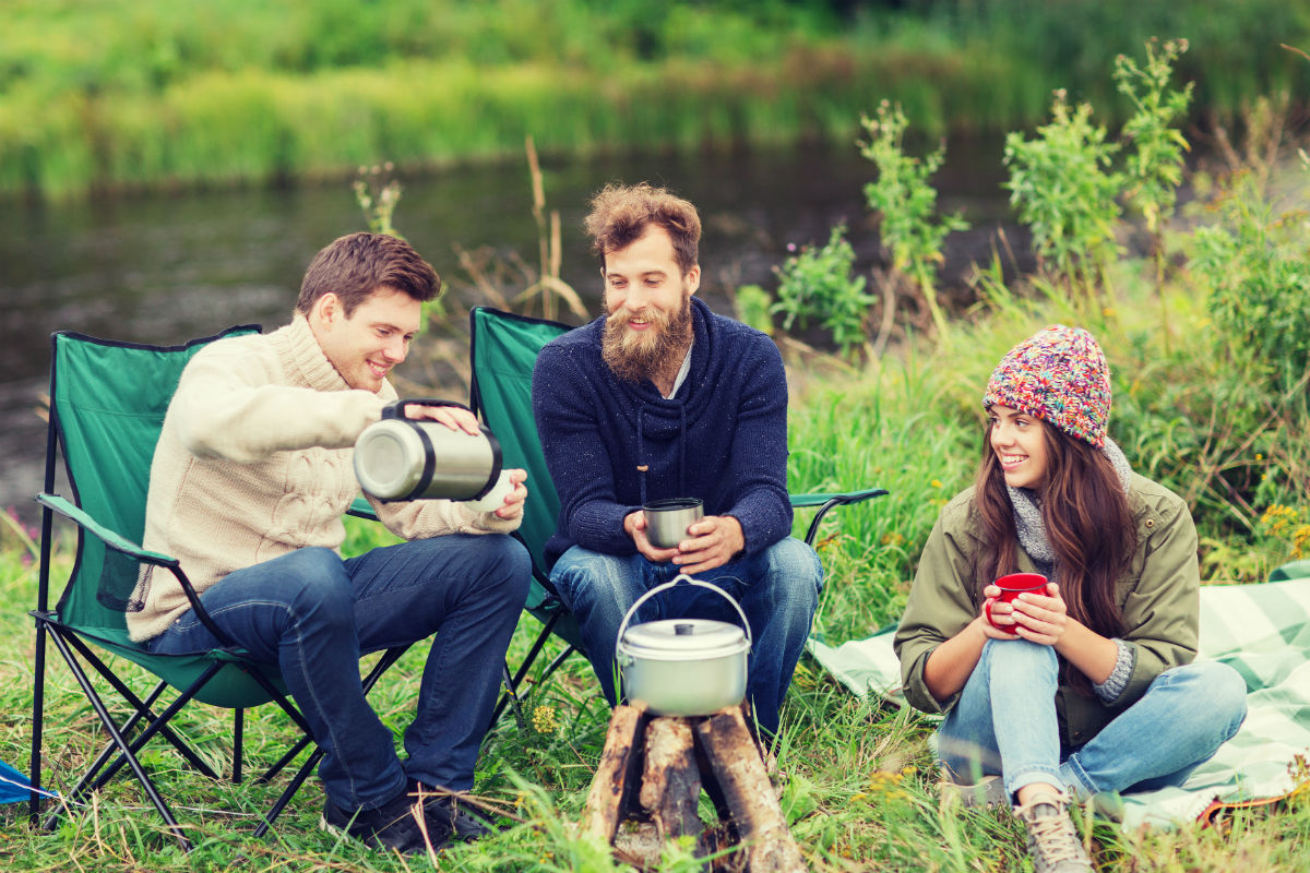
<instances>
[{"instance_id":1,"label":"low rounded green bush at water's edge, right of bearded man's head","mask_svg":"<svg viewBox=\"0 0 1310 873\"><path fill-rule=\"evenodd\" d=\"M832 334L833 343L846 357L865 343L865 322L874 296L865 292L865 276L853 276L855 251L845 238L846 226L837 225L820 249L804 246L783 262L778 272L778 302L782 329L819 322Z\"/></svg>"}]
</instances>

